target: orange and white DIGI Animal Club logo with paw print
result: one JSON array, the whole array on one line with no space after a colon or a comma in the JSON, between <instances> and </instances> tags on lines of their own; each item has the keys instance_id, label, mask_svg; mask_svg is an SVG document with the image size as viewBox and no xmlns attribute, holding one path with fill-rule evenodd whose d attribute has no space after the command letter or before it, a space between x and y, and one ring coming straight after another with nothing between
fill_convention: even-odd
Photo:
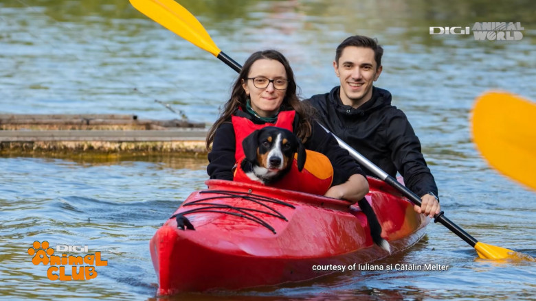
<instances>
[{"instance_id":1,"label":"orange and white DIGI Animal Club logo with paw print","mask_svg":"<svg viewBox=\"0 0 536 301\"><path fill-rule=\"evenodd\" d=\"M32 258L34 265L39 265L40 263L50 265L47 269L47 278L52 281L90 280L98 276L96 266L108 265L108 261L102 260L100 257L100 251L83 257L65 253L54 255L54 252L87 253L87 251L87 245L56 245L56 250L54 250L49 248L48 241L43 241L42 243L34 241L32 248L28 249L28 254L34 256ZM65 271L67 267L71 267L71 274Z\"/></svg>"}]
</instances>

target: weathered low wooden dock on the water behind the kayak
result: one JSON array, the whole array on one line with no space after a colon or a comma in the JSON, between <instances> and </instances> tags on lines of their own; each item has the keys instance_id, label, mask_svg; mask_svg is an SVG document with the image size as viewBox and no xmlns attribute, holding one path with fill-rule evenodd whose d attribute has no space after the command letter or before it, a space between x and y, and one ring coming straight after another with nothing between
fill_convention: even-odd
<instances>
[{"instance_id":1,"label":"weathered low wooden dock on the water behind the kayak","mask_svg":"<svg viewBox=\"0 0 536 301\"><path fill-rule=\"evenodd\" d=\"M0 154L206 153L204 123L136 115L0 114Z\"/></svg>"}]
</instances>

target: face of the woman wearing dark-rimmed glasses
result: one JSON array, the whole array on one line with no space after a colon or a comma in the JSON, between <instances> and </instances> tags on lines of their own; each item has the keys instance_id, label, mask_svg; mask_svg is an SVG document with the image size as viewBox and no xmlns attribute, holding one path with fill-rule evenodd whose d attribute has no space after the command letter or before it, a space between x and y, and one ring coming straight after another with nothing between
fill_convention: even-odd
<instances>
[{"instance_id":1,"label":"face of the woman wearing dark-rimmed glasses","mask_svg":"<svg viewBox=\"0 0 536 301\"><path fill-rule=\"evenodd\" d=\"M278 112L285 93L287 93L287 72L277 60L256 60L249 69L248 80L242 83L245 93L252 100L253 110L260 117L272 117ZM256 78L257 80L252 80ZM268 82L275 80L274 82ZM255 83L254 83L255 81ZM264 86L266 88L257 88ZM279 89L278 89L279 88ZM282 89L282 90L280 90Z\"/></svg>"}]
</instances>

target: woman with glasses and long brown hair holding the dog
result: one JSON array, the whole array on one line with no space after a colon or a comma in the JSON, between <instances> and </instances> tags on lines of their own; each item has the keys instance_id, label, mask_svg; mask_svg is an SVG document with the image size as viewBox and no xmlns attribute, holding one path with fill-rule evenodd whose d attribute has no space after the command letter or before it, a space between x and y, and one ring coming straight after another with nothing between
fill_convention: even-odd
<instances>
[{"instance_id":1,"label":"woman with glasses and long brown hair holding the dog","mask_svg":"<svg viewBox=\"0 0 536 301\"><path fill-rule=\"evenodd\" d=\"M233 116L256 125L276 126L290 118L291 128L305 148L324 154L333 165L333 182L326 197L355 204L368 193L364 171L331 134L313 121L313 109L298 99L293 71L280 52L258 51L246 60L231 98L208 132L207 172L211 179L233 180L233 168L237 163L235 130L240 130L234 128Z\"/></svg>"}]
</instances>

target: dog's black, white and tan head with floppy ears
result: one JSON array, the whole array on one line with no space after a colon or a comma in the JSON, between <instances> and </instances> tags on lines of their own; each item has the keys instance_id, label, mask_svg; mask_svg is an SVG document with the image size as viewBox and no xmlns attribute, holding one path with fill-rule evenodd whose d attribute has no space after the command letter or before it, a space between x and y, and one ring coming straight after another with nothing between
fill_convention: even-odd
<instances>
[{"instance_id":1,"label":"dog's black, white and tan head with floppy ears","mask_svg":"<svg viewBox=\"0 0 536 301\"><path fill-rule=\"evenodd\" d=\"M242 147L258 178L269 180L287 171L298 153L298 171L305 165L305 147L289 130L268 126L249 134Z\"/></svg>"}]
</instances>

